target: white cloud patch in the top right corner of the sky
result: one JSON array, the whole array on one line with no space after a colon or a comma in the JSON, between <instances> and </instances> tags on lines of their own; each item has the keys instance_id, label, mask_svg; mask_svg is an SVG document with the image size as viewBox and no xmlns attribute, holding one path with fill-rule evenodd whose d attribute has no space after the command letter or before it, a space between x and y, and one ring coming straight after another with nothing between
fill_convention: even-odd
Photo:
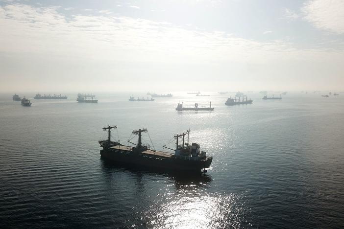
<instances>
[{"instance_id":1,"label":"white cloud patch in the top right corner of the sky","mask_svg":"<svg viewBox=\"0 0 344 229\"><path fill-rule=\"evenodd\" d=\"M344 33L343 0L309 0L302 11L304 19L315 27L337 34Z\"/></svg>"}]
</instances>

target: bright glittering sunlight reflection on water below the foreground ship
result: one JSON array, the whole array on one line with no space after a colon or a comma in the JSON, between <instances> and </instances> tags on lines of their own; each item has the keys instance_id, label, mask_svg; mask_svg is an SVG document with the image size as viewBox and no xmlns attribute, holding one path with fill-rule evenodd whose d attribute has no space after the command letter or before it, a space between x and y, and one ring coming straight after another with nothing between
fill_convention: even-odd
<instances>
[{"instance_id":1,"label":"bright glittering sunlight reflection on water below the foreground ship","mask_svg":"<svg viewBox=\"0 0 344 229\"><path fill-rule=\"evenodd\" d=\"M241 228L247 211L235 194L198 193L190 187L161 202L145 214L150 228Z\"/></svg>"}]
</instances>

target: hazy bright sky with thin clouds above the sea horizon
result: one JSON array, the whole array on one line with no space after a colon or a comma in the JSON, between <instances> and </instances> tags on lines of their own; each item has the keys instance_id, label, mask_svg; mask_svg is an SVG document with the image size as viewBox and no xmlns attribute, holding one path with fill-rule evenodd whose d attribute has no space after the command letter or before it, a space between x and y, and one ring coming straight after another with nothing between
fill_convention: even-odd
<instances>
[{"instance_id":1,"label":"hazy bright sky with thin clouds above the sea horizon","mask_svg":"<svg viewBox=\"0 0 344 229\"><path fill-rule=\"evenodd\" d=\"M344 90L344 0L0 0L0 92Z\"/></svg>"}]
</instances>

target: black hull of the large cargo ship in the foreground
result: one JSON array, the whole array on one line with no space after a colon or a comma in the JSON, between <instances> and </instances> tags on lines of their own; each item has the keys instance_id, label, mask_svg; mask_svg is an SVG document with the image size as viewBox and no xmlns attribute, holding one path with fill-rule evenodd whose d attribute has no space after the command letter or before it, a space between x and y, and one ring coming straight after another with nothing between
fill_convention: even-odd
<instances>
[{"instance_id":1,"label":"black hull of the large cargo ship in the foreground","mask_svg":"<svg viewBox=\"0 0 344 229\"><path fill-rule=\"evenodd\" d=\"M103 159L123 165L140 166L149 169L164 169L175 172L201 172L201 169L208 168L213 160L212 158L206 158L204 160L184 160L176 157L159 157L109 148L100 150L100 155Z\"/></svg>"}]
</instances>

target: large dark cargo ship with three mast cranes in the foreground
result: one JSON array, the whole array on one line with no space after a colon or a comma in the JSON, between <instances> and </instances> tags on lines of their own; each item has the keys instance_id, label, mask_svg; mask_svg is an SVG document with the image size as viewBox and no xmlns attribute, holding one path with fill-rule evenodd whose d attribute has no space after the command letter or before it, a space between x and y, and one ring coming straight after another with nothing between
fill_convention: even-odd
<instances>
[{"instance_id":1,"label":"large dark cargo ship with three mast cranes in the foreground","mask_svg":"<svg viewBox=\"0 0 344 229\"><path fill-rule=\"evenodd\" d=\"M103 159L111 160L117 163L143 166L147 168L163 169L168 171L188 171L188 172L201 172L209 168L213 157L206 155L206 152L201 151L199 144L189 144L189 132L174 135L176 139L175 149L163 146L164 151L157 151L151 149L149 145L142 143L142 133L147 133L147 129L139 129L132 132L132 135L138 136L138 143L135 144L128 140L128 144L133 146L123 145L120 141L111 141L111 129L117 129L117 126L108 126L102 128L108 131L108 139L100 140L98 143L102 149L100 155ZM185 136L187 135L187 142L185 143ZM180 145L178 140L182 139ZM154 148L154 147L153 147ZM165 148L172 150L172 153L165 152Z\"/></svg>"}]
</instances>

